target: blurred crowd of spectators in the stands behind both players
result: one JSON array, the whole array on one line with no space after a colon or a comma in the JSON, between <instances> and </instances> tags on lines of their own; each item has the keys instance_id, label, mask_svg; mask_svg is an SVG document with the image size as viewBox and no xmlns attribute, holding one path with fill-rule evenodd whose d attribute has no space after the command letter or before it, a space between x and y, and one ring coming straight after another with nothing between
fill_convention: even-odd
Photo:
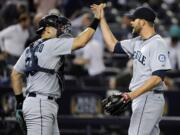
<instances>
[{"instance_id":1,"label":"blurred crowd of spectators in the stands behind both players","mask_svg":"<svg viewBox=\"0 0 180 135\"><path fill-rule=\"evenodd\" d=\"M71 20L71 34L77 35L93 20L89 6L106 2L105 15L115 36L132 38L128 14L139 5L157 12L156 29L169 48L173 70L165 82L168 90L180 90L180 2L179 0L3 0L0 1L0 89L10 87L10 72L34 38L40 19L47 14ZM66 57L65 88L104 87L126 91L132 75L132 61L124 55L110 55L100 28L89 45ZM107 94L111 94L108 91Z\"/></svg>"}]
</instances>

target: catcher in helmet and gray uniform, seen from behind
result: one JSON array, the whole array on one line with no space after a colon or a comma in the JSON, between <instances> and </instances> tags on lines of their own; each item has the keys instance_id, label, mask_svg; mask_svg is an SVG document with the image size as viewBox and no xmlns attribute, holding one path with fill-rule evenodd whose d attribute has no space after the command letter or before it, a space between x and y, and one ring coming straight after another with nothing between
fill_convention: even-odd
<instances>
[{"instance_id":1,"label":"catcher in helmet and gray uniform, seen from behind","mask_svg":"<svg viewBox=\"0 0 180 135\"><path fill-rule=\"evenodd\" d=\"M55 101L63 90L64 55L86 45L99 24L99 15L95 14L91 25L75 38L63 34L66 26L62 20L56 15L42 18L37 30L41 38L25 49L12 71L16 118L25 133L27 126L27 135L60 134ZM27 78L25 100L22 94L24 74Z\"/></svg>"}]
</instances>

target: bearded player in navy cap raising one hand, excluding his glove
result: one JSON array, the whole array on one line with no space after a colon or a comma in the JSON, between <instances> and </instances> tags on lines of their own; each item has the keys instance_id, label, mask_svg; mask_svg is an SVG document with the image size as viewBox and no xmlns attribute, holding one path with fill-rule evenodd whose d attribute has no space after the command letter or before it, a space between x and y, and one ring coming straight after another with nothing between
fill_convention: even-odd
<instances>
[{"instance_id":1,"label":"bearded player in navy cap raising one hand, excluding his glove","mask_svg":"<svg viewBox=\"0 0 180 135\"><path fill-rule=\"evenodd\" d=\"M165 42L154 29L156 14L150 7L135 9L131 25L139 36L117 41L105 20L103 7L103 4L91 6L95 12L101 12L100 26L107 47L113 53L125 53L133 59L131 92L122 94L124 102L132 100L128 134L159 135L164 106L163 80L171 66Z\"/></svg>"}]
</instances>

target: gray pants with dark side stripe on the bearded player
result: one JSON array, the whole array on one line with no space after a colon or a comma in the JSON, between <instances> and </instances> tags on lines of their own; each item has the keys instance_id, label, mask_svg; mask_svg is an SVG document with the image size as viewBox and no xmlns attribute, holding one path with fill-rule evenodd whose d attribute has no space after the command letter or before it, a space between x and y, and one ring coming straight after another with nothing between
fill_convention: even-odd
<instances>
[{"instance_id":1,"label":"gray pants with dark side stripe on the bearded player","mask_svg":"<svg viewBox=\"0 0 180 135\"><path fill-rule=\"evenodd\" d=\"M164 108L162 93L147 92L132 103L129 135L159 135L159 122Z\"/></svg>"}]
</instances>

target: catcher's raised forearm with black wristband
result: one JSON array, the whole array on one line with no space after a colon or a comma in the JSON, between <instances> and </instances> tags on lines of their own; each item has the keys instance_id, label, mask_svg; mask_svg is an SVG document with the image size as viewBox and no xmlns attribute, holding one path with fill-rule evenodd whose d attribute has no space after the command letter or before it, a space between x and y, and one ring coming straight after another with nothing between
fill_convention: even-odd
<instances>
[{"instance_id":1,"label":"catcher's raised forearm with black wristband","mask_svg":"<svg viewBox=\"0 0 180 135\"><path fill-rule=\"evenodd\" d=\"M84 47L88 41L92 38L95 33L96 28L98 27L99 19L94 18L92 24L81 32L76 38L74 38L72 50L76 50Z\"/></svg>"}]
</instances>

